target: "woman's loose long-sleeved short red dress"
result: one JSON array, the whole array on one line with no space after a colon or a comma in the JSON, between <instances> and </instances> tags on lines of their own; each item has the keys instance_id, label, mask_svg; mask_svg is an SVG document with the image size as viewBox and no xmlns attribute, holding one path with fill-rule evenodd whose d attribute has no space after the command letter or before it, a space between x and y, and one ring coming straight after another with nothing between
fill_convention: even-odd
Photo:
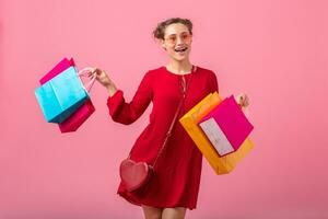
<instances>
[{"instance_id":1,"label":"woman's loose long-sleeved short red dress","mask_svg":"<svg viewBox=\"0 0 328 219\"><path fill-rule=\"evenodd\" d=\"M132 160L150 164L155 160L181 97L181 77L163 66L144 74L131 102L125 101L121 90L108 97L107 106L113 120L125 125L137 120L153 102L150 123L131 149ZM196 71L184 77L189 81L189 89L178 118L207 94L218 91L216 77L211 70L197 67ZM134 205L194 209L197 205L201 164L201 152L177 120L149 184L143 189L129 193L120 183L117 193Z\"/></svg>"}]
</instances>

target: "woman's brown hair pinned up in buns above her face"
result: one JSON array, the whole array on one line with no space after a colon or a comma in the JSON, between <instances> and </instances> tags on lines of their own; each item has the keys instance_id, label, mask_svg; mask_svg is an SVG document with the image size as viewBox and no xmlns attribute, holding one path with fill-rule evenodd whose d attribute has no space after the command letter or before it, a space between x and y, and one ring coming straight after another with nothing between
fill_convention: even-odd
<instances>
[{"instance_id":1,"label":"woman's brown hair pinned up in buns above her face","mask_svg":"<svg viewBox=\"0 0 328 219\"><path fill-rule=\"evenodd\" d=\"M176 24L180 23L184 24L188 27L189 33L192 35L192 23L188 19L180 19L180 18L173 18L173 19L167 19L161 23L157 24L156 28L153 31L153 36L154 38L157 39L164 39L164 34L165 34L165 28L169 24Z\"/></svg>"}]
</instances>

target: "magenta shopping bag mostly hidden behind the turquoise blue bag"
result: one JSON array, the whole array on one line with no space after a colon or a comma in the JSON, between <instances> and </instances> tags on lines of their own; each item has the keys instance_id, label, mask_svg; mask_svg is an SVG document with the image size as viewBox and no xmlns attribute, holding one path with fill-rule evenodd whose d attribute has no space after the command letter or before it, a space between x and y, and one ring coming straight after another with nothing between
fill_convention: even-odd
<instances>
[{"instance_id":1,"label":"magenta shopping bag mostly hidden behind the turquoise blue bag","mask_svg":"<svg viewBox=\"0 0 328 219\"><path fill-rule=\"evenodd\" d=\"M71 66L75 66L73 58L68 60L63 58L59 64L57 64L47 74L45 74L40 80L40 84L46 83L47 81L55 78L57 74L61 73ZM61 132L75 131L93 113L95 107L92 104L91 100L86 100L82 106L80 106L71 116L66 120L58 124Z\"/></svg>"}]
</instances>

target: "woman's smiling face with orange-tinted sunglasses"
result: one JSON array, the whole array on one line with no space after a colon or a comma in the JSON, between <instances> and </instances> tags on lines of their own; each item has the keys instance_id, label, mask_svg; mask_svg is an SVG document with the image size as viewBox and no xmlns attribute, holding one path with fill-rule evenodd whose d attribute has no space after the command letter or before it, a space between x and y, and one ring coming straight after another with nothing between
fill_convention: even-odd
<instances>
[{"instance_id":1,"label":"woman's smiling face with orange-tinted sunglasses","mask_svg":"<svg viewBox=\"0 0 328 219\"><path fill-rule=\"evenodd\" d=\"M191 42L192 36L186 25L180 23L169 24L165 28L162 47L172 59L183 61L189 58Z\"/></svg>"}]
</instances>

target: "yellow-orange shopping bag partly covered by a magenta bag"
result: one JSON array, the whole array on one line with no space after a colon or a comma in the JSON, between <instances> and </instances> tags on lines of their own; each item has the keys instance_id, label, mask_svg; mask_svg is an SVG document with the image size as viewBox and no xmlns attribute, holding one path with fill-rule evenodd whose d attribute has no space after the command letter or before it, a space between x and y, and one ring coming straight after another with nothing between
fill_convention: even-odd
<instances>
[{"instance_id":1,"label":"yellow-orange shopping bag partly covered by a magenta bag","mask_svg":"<svg viewBox=\"0 0 328 219\"><path fill-rule=\"evenodd\" d=\"M210 93L201 100L196 106L187 112L180 119L180 124L191 137L201 153L206 157L216 174L230 173L253 148L254 145L247 138L237 151L220 157L214 147L208 140L198 123L210 113L215 106L221 103L221 97L218 92Z\"/></svg>"}]
</instances>

